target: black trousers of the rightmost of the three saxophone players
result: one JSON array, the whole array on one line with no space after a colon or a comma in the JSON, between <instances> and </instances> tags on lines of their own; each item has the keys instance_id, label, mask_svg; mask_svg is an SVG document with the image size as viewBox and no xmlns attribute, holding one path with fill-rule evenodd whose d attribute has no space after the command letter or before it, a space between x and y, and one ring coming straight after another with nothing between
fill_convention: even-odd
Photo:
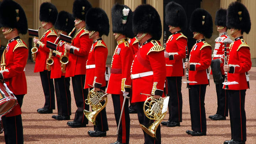
<instances>
[{"instance_id":1,"label":"black trousers of the rightmost of the three saxophone players","mask_svg":"<svg viewBox=\"0 0 256 144\"><path fill-rule=\"evenodd\" d=\"M88 89L84 89L85 75L75 75L71 77L75 103L78 109L75 112L74 121L81 124L88 124L88 119L84 115L84 110L89 111L89 105L85 105L88 96Z\"/></svg>"}]
</instances>

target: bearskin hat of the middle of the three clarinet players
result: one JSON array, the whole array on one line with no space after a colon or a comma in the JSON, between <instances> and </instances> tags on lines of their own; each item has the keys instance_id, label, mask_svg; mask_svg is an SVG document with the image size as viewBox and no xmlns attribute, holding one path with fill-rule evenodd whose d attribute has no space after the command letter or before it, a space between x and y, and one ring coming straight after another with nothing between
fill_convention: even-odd
<instances>
[{"instance_id":1,"label":"bearskin hat of the middle of the three clarinet players","mask_svg":"<svg viewBox=\"0 0 256 144\"><path fill-rule=\"evenodd\" d=\"M212 16L204 9L195 9L190 18L190 31L202 33L206 38L212 37Z\"/></svg>"}]
</instances>

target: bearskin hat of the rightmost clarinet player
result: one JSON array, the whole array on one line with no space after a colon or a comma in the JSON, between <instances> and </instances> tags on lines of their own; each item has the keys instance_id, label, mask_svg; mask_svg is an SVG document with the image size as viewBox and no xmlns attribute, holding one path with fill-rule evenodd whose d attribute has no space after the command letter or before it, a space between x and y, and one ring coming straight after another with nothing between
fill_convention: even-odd
<instances>
[{"instance_id":1,"label":"bearskin hat of the rightmost clarinet player","mask_svg":"<svg viewBox=\"0 0 256 144\"><path fill-rule=\"evenodd\" d=\"M246 7L238 1L232 2L227 10L227 23L228 28L235 28L246 32L251 30L250 15Z\"/></svg>"}]
</instances>

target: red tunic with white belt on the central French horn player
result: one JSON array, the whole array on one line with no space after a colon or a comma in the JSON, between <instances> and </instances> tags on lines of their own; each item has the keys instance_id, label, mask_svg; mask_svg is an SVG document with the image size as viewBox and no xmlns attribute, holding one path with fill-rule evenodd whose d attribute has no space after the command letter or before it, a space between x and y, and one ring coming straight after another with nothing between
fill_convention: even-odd
<instances>
[{"instance_id":1,"label":"red tunic with white belt on the central French horn player","mask_svg":"<svg viewBox=\"0 0 256 144\"><path fill-rule=\"evenodd\" d=\"M132 102L145 101L149 95L162 95L166 78L164 48L159 41L151 40L142 45L137 52L132 66L131 74L140 74L153 71L153 75L132 79Z\"/></svg>"}]
</instances>

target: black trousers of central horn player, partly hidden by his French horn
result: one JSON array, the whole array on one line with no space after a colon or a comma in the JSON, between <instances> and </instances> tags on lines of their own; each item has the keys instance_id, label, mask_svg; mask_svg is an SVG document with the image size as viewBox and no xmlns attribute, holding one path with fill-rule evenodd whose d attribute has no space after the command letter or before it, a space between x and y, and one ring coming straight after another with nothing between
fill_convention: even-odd
<instances>
[{"instance_id":1,"label":"black trousers of central horn player, partly hidden by his French horn","mask_svg":"<svg viewBox=\"0 0 256 144\"><path fill-rule=\"evenodd\" d=\"M144 111L143 111L143 105L144 102L136 102L136 108L138 112L138 119L139 123L142 124L143 126L147 127L150 126L152 123L154 123L154 120L149 119L145 116ZM156 139L148 135L147 133L144 132L144 144L161 144L161 127L160 124L158 128L156 129Z\"/></svg>"}]
</instances>

